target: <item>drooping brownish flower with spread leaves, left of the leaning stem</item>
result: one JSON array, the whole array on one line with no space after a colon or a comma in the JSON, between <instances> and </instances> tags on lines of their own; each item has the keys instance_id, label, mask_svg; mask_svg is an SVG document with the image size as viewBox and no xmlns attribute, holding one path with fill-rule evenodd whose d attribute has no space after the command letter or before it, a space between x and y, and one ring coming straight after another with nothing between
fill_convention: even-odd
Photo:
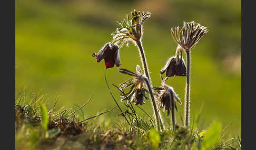
<instances>
[{"instance_id":1,"label":"drooping brownish flower with spread leaves, left of the leaning stem","mask_svg":"<svg viewBox=\"0 0 256 150\"><path fill-rule=\"evenodd\" d=\"M123 94L121 93L121 101L131 99L131 102L134 102L135 105L140 104L143 105L144 98L148 99L145 95L145 92L148 92L145 87L145 80L146 78L141 73L141 68L139 65L136 66L136 73L129 71L127 69L120 68L121 73L127 74L129 76L133 76L132 79L125 81L124 83L120 84L121 89L129 88L130 91Z\"/></svg>"}]
</instances>

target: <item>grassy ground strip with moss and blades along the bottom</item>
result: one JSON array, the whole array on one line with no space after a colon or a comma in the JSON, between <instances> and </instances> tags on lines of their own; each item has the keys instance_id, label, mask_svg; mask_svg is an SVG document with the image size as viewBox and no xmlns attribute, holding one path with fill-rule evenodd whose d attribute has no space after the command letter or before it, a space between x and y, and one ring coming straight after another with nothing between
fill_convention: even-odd
<instances>
[{"instance_id":1,"label":"grassy ground strip with moss and blades along the bottom","mask_svg":"<svg viewBox=\"0 0 256 150\"><path fill-rule=\"evenodd\" d=\"M97 125L95 117L83 121L81 108L87 107L92 97L76 110L55 109L57 98L47 110L44 97L22 93L16 98L16 149L241 149L239 136L223 138L225 128L222 130L219 121L202 131L197 126L190 131L176 126L173 132L165 124L165 130L160 132L149 117L138 116L137 122L126 114L131 125L115 122L117 126L113 128L104 123Z\"/></svg>"}]
</instances>

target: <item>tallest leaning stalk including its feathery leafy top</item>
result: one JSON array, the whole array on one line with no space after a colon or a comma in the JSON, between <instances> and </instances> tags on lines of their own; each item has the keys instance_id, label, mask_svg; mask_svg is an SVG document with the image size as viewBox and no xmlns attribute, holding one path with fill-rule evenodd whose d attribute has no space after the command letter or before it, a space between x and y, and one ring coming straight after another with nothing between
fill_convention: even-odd
<instances>
[{"instance_id":1,"label":"tallest leaning stalk including its feathery leafy top","mask_svg":"<svg viewBox=\"0 0 256 150\"><path fill-rule=\"evenodd\" d=\"M133 12L131 12L131 19L127 15L126 19L122 20L121 23L119 23L119 28L115 30L115 33L112 33L113 39L110 42L111 45L117 44L122 47L125 43L129 45L129 42L132 41L135 46L137 46L141 62L143 66L143 70L145 72L145 75L147 77L147 80L149 82L149 92L152 91L152 84L151 84L151 78L150 78L150 71L149 67L147 66L145 52L142 46L141 38L143 36L143 24L147 18L150 17L150 12L137 12L135 9ZM160 115L156 110L156 104L154 100L153 92L150 92L151 94L151 100L152 100L152 108L154 111L156 126L160 130ZM162 125L161 125L162 126ZM163 128L163 127L162 127Z\"/></svg>"}]
</instances>

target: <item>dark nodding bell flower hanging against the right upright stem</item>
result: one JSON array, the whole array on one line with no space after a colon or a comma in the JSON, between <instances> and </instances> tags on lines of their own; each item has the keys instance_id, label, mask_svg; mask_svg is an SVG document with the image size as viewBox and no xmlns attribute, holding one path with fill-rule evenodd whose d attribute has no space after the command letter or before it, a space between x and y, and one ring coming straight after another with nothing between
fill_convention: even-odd
<instances>
[{"instance_id":1,"label":"dark nodding bell flower hanging against the right upright stem","mask_svg":"<svg viewBox=\"0 0 256 150\"><path fill-rule=\"evenodd\" d=\"M181 54L179 56L179 53ZM160 71L163 74L166 71L166 77L186 76L186 66L182 58L182 49L177 48L176 57L172 56Z\"/></svg>"}]
</instances>

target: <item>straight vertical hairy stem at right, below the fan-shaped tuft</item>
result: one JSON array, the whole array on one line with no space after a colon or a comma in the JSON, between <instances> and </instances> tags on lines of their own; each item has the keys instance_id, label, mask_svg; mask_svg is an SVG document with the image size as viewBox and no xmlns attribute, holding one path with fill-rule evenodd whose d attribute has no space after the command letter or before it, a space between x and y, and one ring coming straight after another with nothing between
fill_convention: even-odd
<instances>
[{"instance_id":1,"label":"straight vertical hairy stem at right, below the fan-shaped tuft","mask_svg":"<svg viewBox=\"0 0 256 150\"><path fill-rule=\"evenodd\" d=\"M186 93L185 93L185 126L189 129L190 120L190 49L186 50Z\"/></svg>"}]
</instances>

